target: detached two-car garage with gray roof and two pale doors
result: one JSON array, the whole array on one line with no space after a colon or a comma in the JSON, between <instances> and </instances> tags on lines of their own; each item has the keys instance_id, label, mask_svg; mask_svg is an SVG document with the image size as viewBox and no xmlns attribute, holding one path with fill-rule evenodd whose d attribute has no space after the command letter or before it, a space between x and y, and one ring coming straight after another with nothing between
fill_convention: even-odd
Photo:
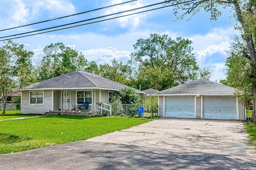
<instances>
[{"instance_id":1,"label":"detached two-car garage with gray roof and two pale doors","mask_svg":"<svg viewBox=\"0 0 256 170\"><path fill-rule=\"evenodd\" d=\"M202 78L162 90L159 116L244 120L244 106L234 96L235 88Z\"/></svg>"}]
</instances>

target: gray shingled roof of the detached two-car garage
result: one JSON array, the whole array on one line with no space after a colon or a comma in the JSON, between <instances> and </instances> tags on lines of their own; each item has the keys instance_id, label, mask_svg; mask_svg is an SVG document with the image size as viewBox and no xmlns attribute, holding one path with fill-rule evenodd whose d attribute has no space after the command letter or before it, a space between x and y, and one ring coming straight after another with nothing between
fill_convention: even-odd
<instances>
[{"instance_id":1,"label":"gray shingled roof of the detached two-car garage","mask_svg":"<svg viewBox=\"0 0 256 170\"><path fill-rule=\"evenodd\" d=\"M234 94L236 88L200 78L156 94Z\"/></svg>"}]
</instances>

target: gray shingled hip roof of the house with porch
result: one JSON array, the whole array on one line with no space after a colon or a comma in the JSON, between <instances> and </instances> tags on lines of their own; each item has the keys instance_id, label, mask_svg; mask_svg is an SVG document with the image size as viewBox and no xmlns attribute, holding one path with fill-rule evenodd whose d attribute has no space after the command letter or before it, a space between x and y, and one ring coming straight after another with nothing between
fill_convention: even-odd
<instances>
[{"instance_id":1,"label":"gray shingled hip roof of the house with porch","mask_svg":"<svg viewBox=\"0 0 256 170\"><path fill-rule=\"evenodd\" d=\"M114 89L120 90L127 87L118 82L114 82L107 78L103 78L89 72L75 71L48 80L24 86L21 90L29 89L74 89L74 88L99 88L99 89ZM141 92L135 89L136 92ZM141 92L143 93L143 92Z\"/></svg>"}]
</instances>

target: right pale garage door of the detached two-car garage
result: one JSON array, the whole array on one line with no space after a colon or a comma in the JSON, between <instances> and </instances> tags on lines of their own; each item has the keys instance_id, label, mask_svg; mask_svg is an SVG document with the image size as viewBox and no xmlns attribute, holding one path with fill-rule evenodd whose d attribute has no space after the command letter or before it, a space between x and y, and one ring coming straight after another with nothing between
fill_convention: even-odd
<instances>
[{"instance_id":1,"label":"right pale garage door of the detached two-car garage","mask_svg":"<svg viewBox=\"0 0 256 170\"><path fill-rule=\"evenodd\" d=\"M226 96L203 96L204 119L236 119L236 100Z\"/></svg>"}]
</instances>

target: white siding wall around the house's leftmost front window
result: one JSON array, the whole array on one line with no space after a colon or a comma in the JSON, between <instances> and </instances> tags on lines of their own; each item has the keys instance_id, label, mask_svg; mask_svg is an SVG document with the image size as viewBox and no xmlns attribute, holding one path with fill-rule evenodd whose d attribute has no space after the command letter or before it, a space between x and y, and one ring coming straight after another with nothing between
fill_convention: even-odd
<instances>
[{"instance_id":1,"label":"white siding wall around the house's leftmost front window","mask_svg":"<svg viewBox=\"0 0 256 170\"><path fill-rule=\"evenodd\" d=\"M52 109L52 90L44 90L44 104L29 104L29 91L22 91L22 113L45 113Z\"/></svg>"}]
</instances>

